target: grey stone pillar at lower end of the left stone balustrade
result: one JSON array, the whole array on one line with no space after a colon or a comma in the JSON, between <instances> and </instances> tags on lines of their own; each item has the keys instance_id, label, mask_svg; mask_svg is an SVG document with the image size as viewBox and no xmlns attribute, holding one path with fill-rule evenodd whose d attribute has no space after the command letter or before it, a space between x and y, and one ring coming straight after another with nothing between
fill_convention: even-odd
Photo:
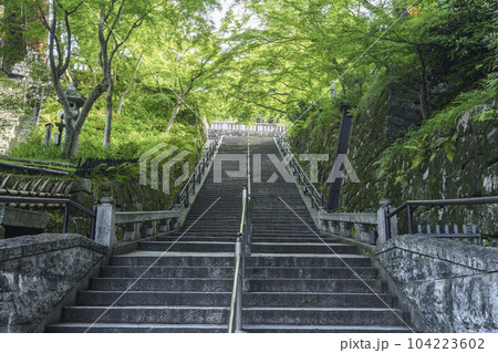
<instances>
[{"instance_id":1,"label":"grey stone pillar at lower end of the left stone balustrade","mask_svg":"<svg viewBox=\"0 0 498 353\"><path fill-rule=\"evenodd\" d=\"M114 199L103 197L100 199L95 220L95 241L112 248L116 243L116 209Z\"/></svg>"}]
</instances>

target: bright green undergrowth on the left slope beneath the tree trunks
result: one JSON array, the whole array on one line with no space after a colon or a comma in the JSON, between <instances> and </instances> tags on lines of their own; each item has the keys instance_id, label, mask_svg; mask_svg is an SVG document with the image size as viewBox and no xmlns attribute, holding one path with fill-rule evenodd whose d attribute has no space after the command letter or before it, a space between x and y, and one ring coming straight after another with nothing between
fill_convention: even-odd
<instances>
[{"instance_id":1,"label":"bright green undergrowth on the left slope beneath the tree trunks","mask_svg":"<svg viewBox=\"0 0 498 353\"><path fill-rule=\"evenodd\" d=\"M11 149L9 156L38 160L71 162L73 164L83 163L86 158L136 159L156 145L165 144L167 147L177 147L178 152L187 150L189 155L186 159L190 162L190 166L194 166L204 146L204 137L199 132L196 120L188 114L179 115L169 135L166 135L169 111L165 102L162 101L164 97L147 94L141 96L139 93L137 92L127 100L123 114L114 114L112 143L107 148L103 147L106 110L105 100L102 97L93 107L83 126L76 157L66 160L61 157L60 147L54 145L44 147L45 124L53 124L53 133L56 133L58 127L55 123L60 122L59 112L61 111L61 105L55 98L50 97L44 103L40 123L33 127L24 142L17 144ZM94 176L91 175L91 177L108 180L128 180L136 179L138 173L138 164L129 164L108 168L106 172L97 173Z\"/></svg>"}]
</instances>

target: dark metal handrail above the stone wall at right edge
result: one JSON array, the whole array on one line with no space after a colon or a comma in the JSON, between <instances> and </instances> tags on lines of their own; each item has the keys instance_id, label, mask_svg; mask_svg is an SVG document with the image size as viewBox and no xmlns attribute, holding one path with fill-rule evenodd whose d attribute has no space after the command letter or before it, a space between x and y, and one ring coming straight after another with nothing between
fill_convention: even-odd
<instances>
[{"instance_id":1,"label":"dark metal handrail above the stone wall at right edge","mask_svg":"<svg viewBox=\"0 0 498 353\"><path fill-rule=\"evenodd\" d=\"M386 238L391 239L391 218L403 211L407 210L407 226L408 233L414 233L413 228L413 212L419 206L429 206L429 207L444 207L444 206L467 206L467 205L487 205L487 204L498 204L498 196L486 196L486 197L471 197L471 198L461 198L461 199L439 199L439 200L409 200L404 203L402 206L397 207L393 211L388 211L388 208L385 210L385 220L386 220Z\"/></svg>"}]
</instances>

